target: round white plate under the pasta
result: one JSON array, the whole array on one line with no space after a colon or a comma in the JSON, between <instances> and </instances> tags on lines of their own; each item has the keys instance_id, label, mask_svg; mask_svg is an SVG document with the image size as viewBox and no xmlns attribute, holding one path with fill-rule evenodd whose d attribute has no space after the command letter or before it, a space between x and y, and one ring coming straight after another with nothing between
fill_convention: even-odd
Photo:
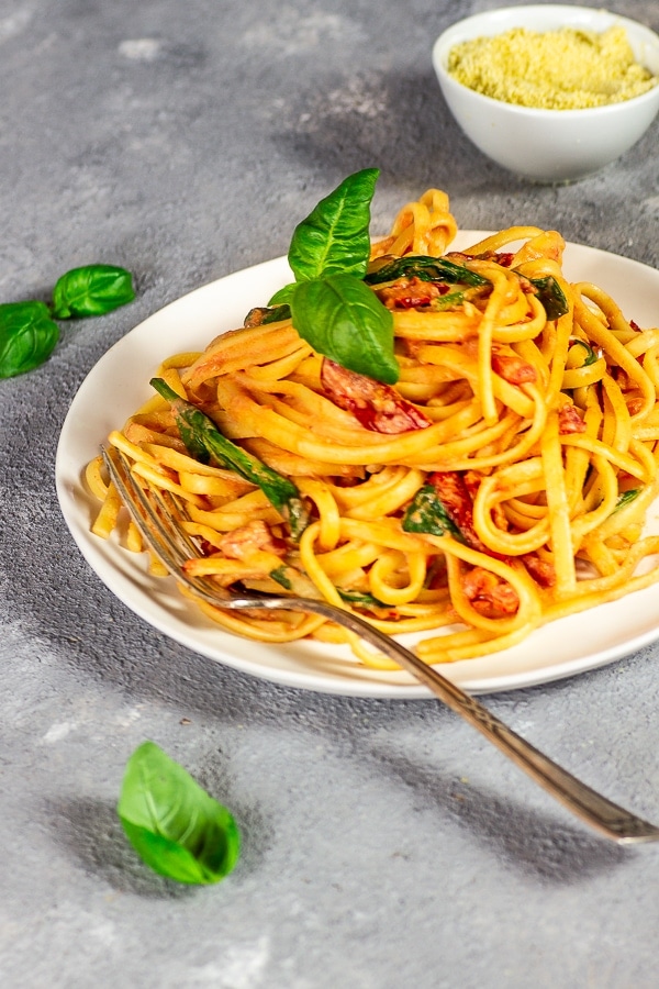
<instances>
[{"instance_id":1,"label":"round white plate under the pasta","mask_svg":"<svg viewBox=\"0 0 659 989\"><path fill-rule=\"evenodd\" d=\"M462 231L453 247L476 243L483 231ZM628 258L569 244L570 280L594 281L640 326L659 322L659 271ZM98 505L82 471L111 430L149 396L148 380L160 360L203 349L217 333L239 326L253 305L263 305L290 280L286 258L237 271L185 296L120 340L92 368L76 395L57 449L57 493L80 551L105 586L153 627L190 649L236 669L292 687L359 697L428 696L409 674L365 669L346 647L312 642L269 645L224 632L183 599L174 581L153 578L142 555L90 533ZM656 507L657 509L657 507ZM650 527L659 531L658 510ZM659 637L659 586L612 604L561 619L523 644L481 659L443 667L477 693L511 690L572 676L612 663Z\"/></svg>"}]
</instances>

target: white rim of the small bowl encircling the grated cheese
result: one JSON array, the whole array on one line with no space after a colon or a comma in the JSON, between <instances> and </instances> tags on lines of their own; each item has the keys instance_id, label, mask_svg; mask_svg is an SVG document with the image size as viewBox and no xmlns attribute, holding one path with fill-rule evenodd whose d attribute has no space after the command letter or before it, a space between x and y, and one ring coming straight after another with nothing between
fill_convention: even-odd
<instances>
[{"instance_id":1,"label":"white rim of the small bowl encircling the grated cheese","mask_svg":"<svg viewBox=\"0 0 659 989\"><path fill-rule=\"evenodd\" d=\"M651 27L648 27L647 24L641 24L640 21L633 21L630 18L624 18L621 14L617 14L613 11L604 10L602 8L595 7L572 7L567 4L559 3L536 3L530 5L520 5L520 7L496 7L493 10L482 11L482 13L472 14L469 18L463 18L460 21L456 21L454 24L450 24L446 31L444 31L433 46L433 60L435 63L435 70L437 73L442 73L445 78L450 79L450 81L455 86L459 86L462 89L468 90L474 98L478 100L482 100L483 104L495 103L501 105L501 103L505 103L509 112L518 114L520 116L546 116L546 118L579 118L584 113L592 113L597 116L606 116L612 113L619 113L621 108L625 105L639 105L644 102L652 102L657 99L659 91L659 82L654 86L651 89L648 89L647 92L641 92L639 96L630 97L627 100L619 100L616 103L606 103L604 107L582 107L578 110L547 110L541 107L521 107L517 103L509 103L505 100L496 100L493 97L484 96L482 92L478 92L476 89L471 89L469 86L465 86L463 82L458 81L454 76L450 75L448 69L446 68L445 57L448 56L450 49L460 44L461 41L468 41L471 37L477 37L477 34L466 36L463 38L456 38L455 41L451 38L451 35L461 33L461 29L468 26L469 24L480 23L483 25L488 24L488 22L492 22L500 16L505 14L510 14L513 16L514 14L520 14L521 18L524 18L525 13L538 13L543 16L556 14L556 25L554 27L547 27L544 30L554 31L559 26L571 26L569 23L570 20L574 21L576 16L580 13L583 15L588 15L593 19L593 27L592 30L596 30L596 23L602 25L602 30L605 30L605 26L613 26L614 24L619 24L622 27L627 30L633 30L636 33L640 33L645 36L646 42L652 47L657 49L657 57L659 59L659 35L656 34ZM565 22L563 18L567 18L568 21ZM500 27L495 34L502 34L504 31L511 30L512 26L509 25L505 27ZM516 26L527 26L525 24L518 24ZM487 33L487 32L483 32ZM650 69L650 71L652 71ZM659 75L655 73L654 75Z\"/></svg>"}]
</instances>

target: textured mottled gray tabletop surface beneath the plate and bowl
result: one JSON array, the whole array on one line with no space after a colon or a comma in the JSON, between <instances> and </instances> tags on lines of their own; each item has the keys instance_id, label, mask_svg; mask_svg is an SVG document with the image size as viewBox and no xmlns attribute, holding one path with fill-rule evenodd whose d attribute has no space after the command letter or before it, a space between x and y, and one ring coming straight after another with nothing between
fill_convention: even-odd
<instances>
[{"instance_id":1,"label":"textured mottled gray tabletop surface beneath the plate and bowl","mask_svg":"<svg viewBox=\"0 0 659 989\"><path fill-rule=\"evenodd\" d=\"M593 836L432 701L271 686L120 604L54 490L57 437L108 347L183 292L286 252L344 175L384 229L431 185L460 224L557 226L659 264L658 125L579 185L485 162L433 38L466 0L0 0L0 301L94 260L138 299L0 382L0 982L5 987L655 987L659 847ZM612 2L659 29L659 5ZM100 437L99 437L100 438ZM488 699L659 820L658 649ZM236 813L217 887L152 875L114 802L153 738Z\"/></svg>"}]
</instances>

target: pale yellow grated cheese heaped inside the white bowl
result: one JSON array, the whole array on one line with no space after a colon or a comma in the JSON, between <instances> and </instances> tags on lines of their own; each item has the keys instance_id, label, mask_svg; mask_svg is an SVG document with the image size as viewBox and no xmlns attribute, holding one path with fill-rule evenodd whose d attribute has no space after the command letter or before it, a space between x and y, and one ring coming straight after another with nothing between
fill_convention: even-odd
<instances>
[{"instance_id":1,"label":"pale yellow grated cheese heaped inside the white bowl","mask_svg":"<svg viewBox=\"0 0 659 989\"><path fill-rule=\"evenodd\" d=\"M448 71L495 100L543 110L583 110L640 96L659 81L634 59L624 27L602 34L514 27L449 53Z\"/></svg>"}]
</instances>

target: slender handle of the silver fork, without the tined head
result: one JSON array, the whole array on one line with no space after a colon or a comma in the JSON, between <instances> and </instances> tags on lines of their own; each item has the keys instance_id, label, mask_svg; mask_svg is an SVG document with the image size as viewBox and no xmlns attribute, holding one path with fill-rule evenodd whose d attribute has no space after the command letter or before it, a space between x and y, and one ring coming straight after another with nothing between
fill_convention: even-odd
<instances>
[{"instance_id":1,"label":"slender handle of the silver fork, without the tined head","mask_svg":"<svg viewBox=\"0 0 659 989\"><path fill-rule=\"evenodd\" d=\"M439 700L474 729L478 729L489 742L500 748L547 792L607 838L612 838L618 844L637 844L659 840L659 827L613 803L587 784L581 782L567 769L526 742L480 701L444 677L435 667L428 666L410 649L380 632L359 615L335 608L327 602L311 599L277 598L268 600L264 597L258 600L250 599L249 603L247 603L248 599L245 601L244 607L275 607L312 611L339 622L394 659L407 673L428 687ZM235 607L235 603L233 601L232 607Z\"/></svg>"}]
</instances>

